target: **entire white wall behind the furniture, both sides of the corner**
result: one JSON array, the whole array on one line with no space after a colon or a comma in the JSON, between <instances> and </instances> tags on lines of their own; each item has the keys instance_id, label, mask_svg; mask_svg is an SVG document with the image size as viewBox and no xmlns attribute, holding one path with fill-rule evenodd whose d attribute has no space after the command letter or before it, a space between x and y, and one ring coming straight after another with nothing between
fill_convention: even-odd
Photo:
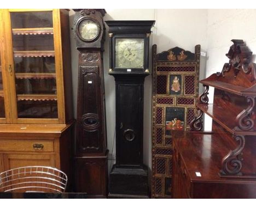
<instances>
[{"instance_id":1,"label":"entire white wall behind the furniture, both sides of the corner","mask_svg":"<svg viewBox=\"0 0 256 208\"><path fill-rule=\"evenodd\" d=\"M158 52L179 46L185 50L194 51L196 44L201 45L201 51L207 52L201 56L200 79L221 71L223 64L228 62L225 54L232 42L231 39L243 39L249 48L256 53L256 19L255 9L106 9L104 20L155 20L151 36L151 45L158 45ZM70 11L70 26L73 25L74 12ZM108 29L107 29L108 31ZM106 31L106 32L107 32ZM110 157L115 157L115 82L108 75L109 69L109 39L106 35L104 43L104 84L106 91L107 139ZM71 32L72 76L74 112L77 107L77 77L78 52L75 49L73 33ZM150 47L150 66L152 64ZM206 69L205 69L206 67ZM150 67L150 71L151 71ZM144 84L144 164L151 168L151 138L152 138L152 76L146 77ZM213 91L210 91L212 97ZM210 99L212 102L212 99ZM205 119L206 130L211 129L211 119ZM112 164L114 161L112 161ZM109 162L110 166L110 162ZM109 168L110 169L110 168Z\"/></svg>"}]
</instances>

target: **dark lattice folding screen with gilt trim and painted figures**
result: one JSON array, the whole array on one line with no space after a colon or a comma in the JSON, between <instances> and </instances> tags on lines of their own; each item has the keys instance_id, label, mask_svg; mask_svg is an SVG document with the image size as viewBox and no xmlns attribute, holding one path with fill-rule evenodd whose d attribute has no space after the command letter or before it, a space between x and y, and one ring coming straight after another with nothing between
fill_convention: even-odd
<instances>
[{"instance_id":1,"label":"dark lattice folding screen with gilt trim and painted figures","mask_svg":"<svg viewBox=\"0 0 256 208\"><path fill-rule=\"evenodd\" d=\"M199 93L200 45L195 53L153 46L152 197L171 198L171 130L189 130Z\"/></svg>"}]
</instances>

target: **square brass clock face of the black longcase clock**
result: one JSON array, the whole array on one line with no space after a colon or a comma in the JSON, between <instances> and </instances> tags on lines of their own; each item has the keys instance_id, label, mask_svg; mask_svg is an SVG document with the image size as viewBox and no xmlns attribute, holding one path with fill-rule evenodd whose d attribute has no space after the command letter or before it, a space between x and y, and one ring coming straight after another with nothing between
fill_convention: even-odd
<instances>
[{"instance_id":1,"label":"square brass clock face of the black longcase clock","mask_svg":"<svg viewBox=\"0 0 256 208\"><path fill-rule=\"evenodd\" d=\"M115 39L115 68L144 68L144 38Z\"/></svg>"}]
</instances>

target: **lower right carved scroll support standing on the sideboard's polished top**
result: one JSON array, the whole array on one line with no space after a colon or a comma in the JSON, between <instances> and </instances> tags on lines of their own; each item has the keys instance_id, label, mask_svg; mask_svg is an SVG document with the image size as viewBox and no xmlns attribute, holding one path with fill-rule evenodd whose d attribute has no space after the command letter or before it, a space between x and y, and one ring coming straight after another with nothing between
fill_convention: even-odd
<instances>
[{"instance_id":1,"label":"lower right carved scroll support standing on the sideboard's polished top","mask_svg":"<svg viewBox=\"0 0 256 208\"><path fill-rule=\"evenodd\" d=\"M237 148L231 150L222 159L222 170L220 170L220 176L237 175L241 176L240 172L242 168L242 150L245 148L245 136L235 135L233 137L238 143Z\"/></svg>"}]
</instances>

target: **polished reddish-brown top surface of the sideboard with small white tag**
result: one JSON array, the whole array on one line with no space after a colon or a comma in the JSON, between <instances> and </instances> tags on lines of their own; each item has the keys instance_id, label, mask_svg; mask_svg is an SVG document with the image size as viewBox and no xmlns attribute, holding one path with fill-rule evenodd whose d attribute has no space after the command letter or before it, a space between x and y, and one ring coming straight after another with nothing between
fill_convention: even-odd
<instances>
[{"instance_id":1,"label":"polished reddish-brown top surface of the sideboard with small white tag","mask_svg":"<svg viewBox=\"0 0 256 208\"><path fill-rule=\"evenodd\" d=\"M222 158L234 146L219 134L172 131L173 143L193 182L255 183L246 178L220 178ZM201 177L196 176L201 173Z\"/></svg>"}]
</instances>

